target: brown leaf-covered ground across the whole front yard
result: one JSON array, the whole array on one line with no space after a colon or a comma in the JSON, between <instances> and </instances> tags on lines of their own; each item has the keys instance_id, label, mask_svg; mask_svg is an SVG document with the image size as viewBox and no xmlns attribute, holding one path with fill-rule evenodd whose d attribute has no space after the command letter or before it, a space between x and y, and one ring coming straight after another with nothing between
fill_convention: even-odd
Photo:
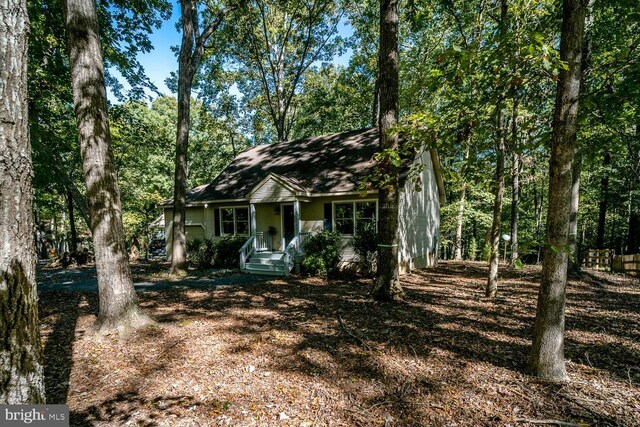
<instances>
[{"instance_id":1,"label":"brown leaf-covered ground across the whole front yard","mask_svg":"<svg viewBox=\"0 0 640 427\"><path fill-rule=\"evenodd\" d=\"M91 333L96 294L43 292L48 401L72 425L640 425L638 279L569 283L571 381L551 384L523 373L539 267L501 273L496 301L484 265L454 262L393 304L300 277L143 292L159 326L126 339Z\"/></svg>"}]
</instances>

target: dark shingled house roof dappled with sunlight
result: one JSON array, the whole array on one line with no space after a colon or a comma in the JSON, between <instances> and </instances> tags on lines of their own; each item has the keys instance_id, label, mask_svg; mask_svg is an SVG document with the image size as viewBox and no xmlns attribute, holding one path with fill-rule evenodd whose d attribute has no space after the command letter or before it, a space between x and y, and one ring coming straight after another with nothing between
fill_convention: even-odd
<instances>
[{"instance_id":1,"label":"dark shingled house roof dappled with sunlight","mask_svg":"<svg viewBox=\"0 0 640 427\"><path fill-rule=\"evenodd\" d=\"M298 193L357 192L378 149L377 128L259 145L240 153L209 184L189 190L187 203L245 199L269 176Z\"/></svg>"}]
</instances>

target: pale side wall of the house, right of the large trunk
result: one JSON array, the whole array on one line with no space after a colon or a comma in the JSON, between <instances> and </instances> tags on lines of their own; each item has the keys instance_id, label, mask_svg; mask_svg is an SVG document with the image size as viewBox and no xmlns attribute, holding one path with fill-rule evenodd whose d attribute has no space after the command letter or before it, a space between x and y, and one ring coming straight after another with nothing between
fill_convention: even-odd
<instances>
[{"instance_id":1,"label":"pale side wall of the house, right of the large trunk","mask_svg":"<svg viewBox=\"0 0 640 427\"><path fill-rule=\"evenodd\" d=\"M399 202L399 263L400 271L435 265L440 231L440 201L438 184L429 152L425 152L416 164L421 163L420 190L416 182L407 181L400 193Z\"/></svg>"}]
</instances>

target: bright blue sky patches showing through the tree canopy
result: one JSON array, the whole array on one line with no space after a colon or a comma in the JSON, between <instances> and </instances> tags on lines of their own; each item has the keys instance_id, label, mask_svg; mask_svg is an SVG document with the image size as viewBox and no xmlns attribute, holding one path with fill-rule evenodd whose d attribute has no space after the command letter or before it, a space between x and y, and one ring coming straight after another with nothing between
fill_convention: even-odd
<instances>
[{"instance_id":1,"label":"bright blue sky patches showing through the tree canopy","mask_svg":"<svg viewBox=\"0 0 640 427\"><path fill-rule=\"evenodd\" d=\"M171 47L180 45L181 36L176 29L176 22L179 17L180 6L175 2L173 4L171 19L165 21L162 27L155 30L149 37L154 49L149 53L138 56L138 60L144 67L147 76L149 76L158 90L164 95L172 95L164 81L169 77L171 72L178 70L178 59L171 50ZM338 24L338 34L342 37L349 37L352 33L353 29L346 20ZM343 55L334 58L333 63L347 65L350 57L351 51L348 50ZM114 74L118 75L117 72ZM110 96L110 99L113 100L114 97Z\"/></svg>"}]
</instances>

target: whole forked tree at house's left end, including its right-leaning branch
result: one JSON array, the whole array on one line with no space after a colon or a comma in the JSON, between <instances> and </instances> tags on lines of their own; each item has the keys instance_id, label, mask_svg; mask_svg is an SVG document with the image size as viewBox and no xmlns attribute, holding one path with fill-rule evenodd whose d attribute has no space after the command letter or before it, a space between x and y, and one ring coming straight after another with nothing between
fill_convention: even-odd
<instances>
[{"instance_id":1,"label":"whole forked tree at house's left end, including its right-leaning branch","mask_svg":"<svg viewBox=\"0 0 640 427\"><path fill-rule=\"evenodd\" d=\"M191 89L196 71L202 62L206 43L224 17L240 5L228 6L217 13L200 31L198 2L182 0L182 44L178 56L178 128L176 133L176 162L173 191L173 226L171 241L171 271L177 273L187 266L185 219L187 211L187 151L191 118Z\"/></svg>"}]
</instances>

